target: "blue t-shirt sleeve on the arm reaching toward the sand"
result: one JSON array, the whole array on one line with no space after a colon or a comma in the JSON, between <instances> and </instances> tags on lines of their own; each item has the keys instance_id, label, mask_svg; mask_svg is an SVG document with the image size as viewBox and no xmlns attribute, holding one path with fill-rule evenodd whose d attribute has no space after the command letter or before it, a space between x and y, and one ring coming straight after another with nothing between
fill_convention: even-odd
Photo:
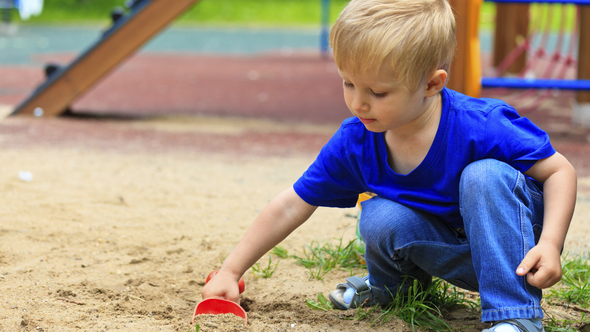
<instances>
[{"instance_id":1,"label":"blue t-shirt sleeve on the arm reaching toward the sand","mask_svg":"<svg viewBox=\"0 0 590 332\"><path fill-rule=\"evenodd\" d=\"M357 172L353 172L342 139L342 127L320 151L316 160L294 183L301 199L314 206L352 208L363 190Z\"/></svg>"}]
</instances>

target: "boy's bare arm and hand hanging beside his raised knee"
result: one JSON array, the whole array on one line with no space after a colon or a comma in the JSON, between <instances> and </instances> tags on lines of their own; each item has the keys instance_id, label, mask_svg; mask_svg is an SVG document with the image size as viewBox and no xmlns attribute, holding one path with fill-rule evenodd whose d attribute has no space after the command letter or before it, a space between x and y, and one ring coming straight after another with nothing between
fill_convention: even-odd
<instances>
[{"instance_id":1,"label":"boy's bare arm and hand hanging beside his raised knee","mask_svg":"<svg viewBox=\"0 0 590 332\"><path fill-rule=\"evenodd\" d=\"M560 254L576 203L576 172L559 153L541 159L525 175L543 183L545 216L539 242L526 254L516 274L529 284L548 288L561 279Z\"/></svg>"}]
</instances>

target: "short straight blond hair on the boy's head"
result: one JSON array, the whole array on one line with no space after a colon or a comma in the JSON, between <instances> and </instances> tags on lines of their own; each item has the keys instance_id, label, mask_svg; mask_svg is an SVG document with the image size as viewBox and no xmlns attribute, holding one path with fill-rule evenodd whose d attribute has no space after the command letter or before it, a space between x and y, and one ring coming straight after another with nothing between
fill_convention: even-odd
<instances>
[{"instance_id":1,"label":"short straight blond hair on the boy's head","mask_svg":"<svg viewBox=\"0 0 590 332\"><path fill-rule=\"evenodd\" d=\"M391 70L402 86L418 88L451 67L455 17L447 0L352 0L330 32L339 68Z\"/></svg>"}]
</instances>

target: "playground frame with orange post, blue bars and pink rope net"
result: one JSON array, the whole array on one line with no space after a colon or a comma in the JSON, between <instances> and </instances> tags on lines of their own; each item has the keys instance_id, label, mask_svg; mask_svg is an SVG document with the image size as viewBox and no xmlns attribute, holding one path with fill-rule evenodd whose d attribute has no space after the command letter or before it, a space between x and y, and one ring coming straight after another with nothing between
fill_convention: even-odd
<instances>
[{"instance_id":1,"label":"playground frame with orange post, blue bars and pink rope net","mask_svg":"<svg viewBox=\"0 0 590 332\"><path fill-rule=\"evenodd\" d=\"M532 88L579 90L578 102L590 102L590 0L486 0L496 2L496 34L494 42L494 66L496 77L481 77L479 40L477 38L478 13L483 0L451 0L457 15L458 52L452 69L450 87L471 96L479 96L480 88ZM539 57L548 52L546 38L552 33L552 13L546 11L544 27L529 31L530 4L572 4L576 5L576 20L569 27L567 19L561 18L559 40L551 62L542 77L527 76L531 67L538 65ZM563 12L563 10L562 10ZM537 23L540 25L540 23ZM569 52L560 53L567 29ZM541 31L543 30L543 31ZM532 39L542 38L539 48L532 52ZM579 35L579 36L578 36ZM578 45L576 41L579 40ZM578 54L574 54L577 46ZM529 51L529 57L526 57ZM562 61L558 64L558 61ZM461 65L463 64L463 65ZM558 65L578 65L577 79L563 77L565 69L558 71ZM553 72L558 71L557 75ZM518 73L516 73L518 72ZM503 74L516 74L516 77L502 77ZM552 75L553 74L553 75ZM480 78L481 77L481 78Z\"/></svg>"}]
</instances>

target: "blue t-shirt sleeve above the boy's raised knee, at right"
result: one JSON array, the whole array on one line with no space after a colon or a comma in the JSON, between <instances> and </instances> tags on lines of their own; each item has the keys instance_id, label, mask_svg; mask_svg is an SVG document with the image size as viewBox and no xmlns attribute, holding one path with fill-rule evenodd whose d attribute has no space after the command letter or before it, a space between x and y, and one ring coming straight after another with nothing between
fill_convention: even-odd
<instances>
[{"instance_id":1,"label":"blue t-shirt sleeve above the boy's raised knee, at right","mask_svg":"<svg viewBox=\"0 0 590 332\"><path fill-rule=\"evenodd\" d=\"M483 158L497 159L526 172L537 160L554 153L549 135L511 107L499 106L488 114Z\"/></svg>"}]
</instances>

